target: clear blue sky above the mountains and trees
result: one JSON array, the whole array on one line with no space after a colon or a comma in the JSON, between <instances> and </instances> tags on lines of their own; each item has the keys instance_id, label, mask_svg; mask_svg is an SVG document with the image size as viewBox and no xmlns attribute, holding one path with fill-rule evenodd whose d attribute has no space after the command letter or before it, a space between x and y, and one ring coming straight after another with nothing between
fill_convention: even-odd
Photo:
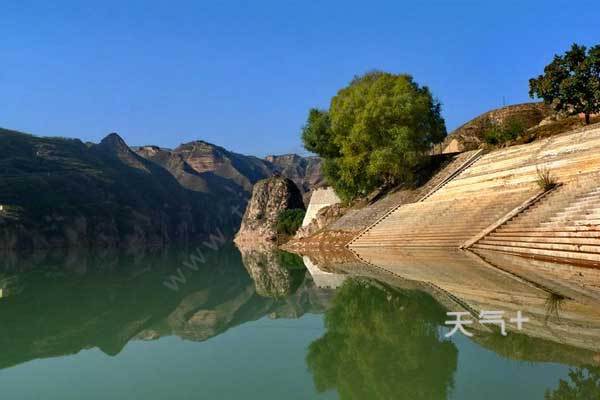
<instances>
[{"instance_id":1,"label":"clear blue sky above the mountains and trees","mask_svg":"<svg viewBox=\"0 0 600 400\"><path fill-rule=\"evenodd\" d=\"M429 86L452 130L529 101L555 53L600 43L598 15L597 1L2 0L0 126L298 152L308 109L380 69Z\"/></svg>"}]
</instances>

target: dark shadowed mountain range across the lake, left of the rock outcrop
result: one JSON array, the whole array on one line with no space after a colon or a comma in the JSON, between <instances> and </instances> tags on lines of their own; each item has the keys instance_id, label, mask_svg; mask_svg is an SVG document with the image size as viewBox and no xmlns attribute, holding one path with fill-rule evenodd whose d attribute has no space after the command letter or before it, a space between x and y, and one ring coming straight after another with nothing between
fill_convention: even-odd
<instances>
[{"instance_id":1,"label":"dark shadowed mountain range across the lake, left of the rock outcrop","mask_svg":"<svg viewBox=\"0 0 600 400\"><path fill-rule=\"evenodd\" d=\"M252 185L279 171L201 141L135 150L115 133L92 144L0 129L0 249L232 237Z\"/></svg>"}]
</instances>

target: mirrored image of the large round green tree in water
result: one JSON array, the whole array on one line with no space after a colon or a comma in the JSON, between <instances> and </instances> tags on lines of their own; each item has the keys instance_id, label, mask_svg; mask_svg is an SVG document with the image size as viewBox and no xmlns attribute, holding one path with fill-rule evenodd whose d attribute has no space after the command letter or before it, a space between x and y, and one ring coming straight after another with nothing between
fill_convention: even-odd
<instances>
[{"instance_id":1,"label":"mirrored image of the large round green tree in water","mask_svg":"<svg viewBox=\"0 0 600 400\"><path fill-rule=\"evenodd\" d=\"M348 280L326 313L308 367L319 391L341 399L445 399L458 351L440 337L444 310L422 292Z\"/></svg>"}]
</instances>

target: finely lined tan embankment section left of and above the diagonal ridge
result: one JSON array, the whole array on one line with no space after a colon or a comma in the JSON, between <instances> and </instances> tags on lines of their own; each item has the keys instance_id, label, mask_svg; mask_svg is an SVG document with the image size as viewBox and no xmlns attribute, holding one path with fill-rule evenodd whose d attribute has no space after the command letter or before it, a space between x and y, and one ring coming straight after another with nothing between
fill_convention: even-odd
<instances>
[{"instance_id":1,"label":"finely lined tan embankment section left of and above the diagonal ridge","mask_svg":"<svg viewBox=\"0 0 600 400\"><path fill-rule=\"evenodd\" d=\"M350 247L459 247L540 193L539 170L563 183L561 191L595 189L599 150L600 125L592 125L493 151L426 200L391 212ZM576 221L595 227L600 218L594 218L592 213L584 222Z\"/></svg>"}]
</instances>

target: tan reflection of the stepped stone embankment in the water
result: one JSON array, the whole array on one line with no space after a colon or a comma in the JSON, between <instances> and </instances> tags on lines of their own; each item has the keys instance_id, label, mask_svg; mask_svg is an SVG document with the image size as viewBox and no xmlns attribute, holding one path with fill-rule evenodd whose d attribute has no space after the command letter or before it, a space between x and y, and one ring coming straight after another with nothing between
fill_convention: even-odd
<instances>
[{"instance_id":1,"label":"tan reflection of the stepped stone embankment in the water","mask_svg":"<svg viewBox=\"0 0 600 400\"><path fill-rule=\"evenodd\" d=\"M586 275L581 284L563 280L550 263L526 270L522 265L529 260L496 252L486 253L485 259L471 252L433 248L361 248L356 253L398 277L450 294L455 302L451 311L466 308L475 320L483 310L505 311L509 318L522 311L530 321L520 332L507 323L509 331L600 352L598 274L585 272L585 268L565 266L573 275Z\"/></svg>"}]
</instances>

